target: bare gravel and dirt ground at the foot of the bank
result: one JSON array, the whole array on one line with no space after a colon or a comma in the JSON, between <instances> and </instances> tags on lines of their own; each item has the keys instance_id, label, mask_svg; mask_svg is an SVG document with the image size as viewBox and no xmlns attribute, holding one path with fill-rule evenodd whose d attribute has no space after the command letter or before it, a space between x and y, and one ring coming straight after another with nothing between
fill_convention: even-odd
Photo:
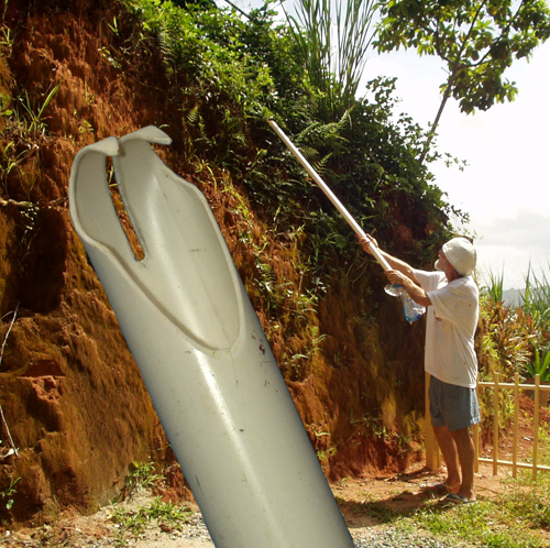
<instances>
[{"instance_id":1,"label":"bare gravel and dirt ground at the foot of the bank","mask_svg":"<svg viewBox=\"0 0 550 548\"><path fill-rule=\"evenodd\" d=\"M441 481L441 475L425 475L415 473L413 476L391 476L387 479L358 479L341 482L332 489L340 501L341 509L354 540L355 548L472 548L472 544L450 544L446 539L436 539L429 533L416 529L408 530L391 523L381 524L376 518L356 513L355 504L365 496L384 501L397 512L406 508L417 508L425 497L418 498L418 484L428 480ZM487 478L480 474L479 490L484 495L497 492L496 480L488 484ZM428 481L429 483L430 481ZM0 548L213 548L208 529L202 520L198 506L189 503L191 511L182 526L177 520L146 522L139 533L131 533L128 522L124 527L118 526L114 519L118 513L132 516L140 509L150 508L154 495L140 490L129 500L114 506L106 506L90 516L65 513L50 524L22 528L19 530L3 529L0 525ZM395 506L399 505L399 506ZM261 547L258 547L261 548Z\"/></svg>"}]
</instances>

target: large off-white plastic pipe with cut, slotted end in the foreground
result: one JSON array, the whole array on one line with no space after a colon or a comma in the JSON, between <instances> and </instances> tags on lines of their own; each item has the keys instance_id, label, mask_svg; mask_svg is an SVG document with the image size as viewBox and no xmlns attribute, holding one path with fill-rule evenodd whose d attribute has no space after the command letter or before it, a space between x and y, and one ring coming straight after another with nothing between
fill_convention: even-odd
<instances>
[{"instance_id":1,"label":"large off-white plastic pipe with cut, slotted end in the foreground","mask_svg":"<svg viewBox=\"0 0 550 548\"><path fill-rule=\"evenodd\" d=\"M150 143L155 127L86 146L69 207L218 548L353 540L202 194ZM106 177L144 251L136 260Z\"/></svg>"}]
</instances>

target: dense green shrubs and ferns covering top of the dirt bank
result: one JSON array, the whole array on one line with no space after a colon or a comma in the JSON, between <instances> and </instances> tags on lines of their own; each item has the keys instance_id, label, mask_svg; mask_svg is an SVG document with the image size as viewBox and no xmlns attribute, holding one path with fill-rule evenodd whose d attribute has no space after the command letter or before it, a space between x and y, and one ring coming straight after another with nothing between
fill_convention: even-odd
<instances>
[{"instance_id":1,"label":"dense green shrubs and ferns covering top of the dirt bank","mask_svg":"<svg viewBox=\"0 0 550 548\"><path fill-rule=\"evenodd\" d=\"M392 81L373 80L372 102L353 92L323 117L324 96L306 74L288 25L272 20L270 2L248 18L227 9L184 10L168 1L124 3L143 22L144 36L161 45L169 98L188 138L186 157L197 155L232 173L278 233L300 227L308 234L304 256L307 250L312 277L328 275L344 256L351 264L356 240L299 164L289 161L268 116L384 245L402 245L424 264L421 250L431 252L447 237L453 209L418 162L424 130L408 118L393 119ZM410 228L414 243L396 243L399 227Z\"/></svg>"}]
</instances>

